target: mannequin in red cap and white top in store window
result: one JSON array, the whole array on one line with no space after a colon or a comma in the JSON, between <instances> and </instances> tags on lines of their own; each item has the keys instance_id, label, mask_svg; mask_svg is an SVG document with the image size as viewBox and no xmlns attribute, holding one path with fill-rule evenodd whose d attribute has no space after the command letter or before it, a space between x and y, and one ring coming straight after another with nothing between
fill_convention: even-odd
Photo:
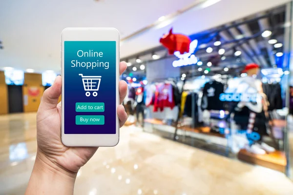
<instances>
[{"instance_id":1,"label":"mannequin in red cap and white top in store window","mask_svg":"<svg viewBox=\"0 0 293 195\"><path fill-rule=\"evenodd\" d=\"M243 119L240 125L242 128L247 128L247 139L249 143L245 146L248 152L264 155L266 153L274 152L275 149L266 143L262 142L262 135L265 128L259 128L261 124L265 123L264 106L265 102L262 98L263 90L262 83L256 79L259 73L259 66L257 64L248 64L244 69L247 77L241 79L236 93L254 97L254 101L240 101L235 110L241 113L238 120ZM246 115L246 116L244 116Z\"/></svg>"}]
</instances>

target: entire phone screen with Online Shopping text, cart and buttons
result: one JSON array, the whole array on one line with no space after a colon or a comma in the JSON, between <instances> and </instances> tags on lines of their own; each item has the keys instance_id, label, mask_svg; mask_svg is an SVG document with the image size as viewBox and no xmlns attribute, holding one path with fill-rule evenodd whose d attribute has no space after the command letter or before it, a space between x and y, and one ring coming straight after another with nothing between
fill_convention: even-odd
<instances>
[{"instance_id":1,"label":"entire phone screen with Online Shopping text, cart and buttons","mask_svg":"<svg viewBox=\"0 0 293 195\"><path fill-rule=\"evenodd\" d=\"M64 41L64 134L116 133L116 41Z\"/></svg>"}]
</instances>

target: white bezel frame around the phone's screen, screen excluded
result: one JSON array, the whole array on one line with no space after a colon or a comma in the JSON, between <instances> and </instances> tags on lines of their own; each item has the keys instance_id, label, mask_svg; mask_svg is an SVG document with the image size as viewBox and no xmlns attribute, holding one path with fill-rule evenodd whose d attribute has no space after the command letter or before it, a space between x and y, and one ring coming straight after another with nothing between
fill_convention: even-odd
<instances>
[{"instance_id":1,"label":"white bezel frame around the phone's screen, screen excluded","mask_svg":"<svg viewBox=\"0 0 293 195\"><path fill-rule=\"evenodd\" d=\"M119 62L120 36L115 28L65 28L61 35L61 69L64 75L64 41L116 41L116 134L64 134L64 104L62 103L61 139L66 146L115 146L119 142ZM62 77L64 86L64 77ZM64 102L64 87L62 87L62 102Z\"/></svg>"}]
</instances>

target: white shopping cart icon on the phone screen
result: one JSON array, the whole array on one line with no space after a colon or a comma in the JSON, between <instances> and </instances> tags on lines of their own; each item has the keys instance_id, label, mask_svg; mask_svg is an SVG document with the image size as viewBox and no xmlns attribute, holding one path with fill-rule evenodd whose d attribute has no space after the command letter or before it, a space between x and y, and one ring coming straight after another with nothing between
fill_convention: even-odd
<instances>
[{"instance_id":1,"label":"white shopping cart icon on the phone screen","mask_svg":"<svg viewBox=\"0 0 293 195\"><path fill-rule=\"evenodd\" d=\"M83 74L79 75L82 76L83 79L84 91L86 91L85 96L90 96L89 91L93 91L94 97L98 96L97 91L99 91L102 76L84 76Z\"/></svg>"}]
</instances>

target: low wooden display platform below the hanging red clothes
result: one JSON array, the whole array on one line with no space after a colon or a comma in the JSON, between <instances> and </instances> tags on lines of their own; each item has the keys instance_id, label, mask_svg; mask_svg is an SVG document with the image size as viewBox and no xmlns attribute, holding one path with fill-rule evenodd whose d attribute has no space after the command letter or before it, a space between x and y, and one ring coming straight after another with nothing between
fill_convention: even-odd
<instances>
[{"instance_id":1,"label":"low wooden display platform below the hanging red clothes","mask_svg":"<svg viewBox=\"0 0 293 195\"><path fill-rule=\"evenodd\" d=\"M167 125L163 122L163 120L156 119L156 118L147 118L147 119L145 119L145 122L150 123L150 124L154 124L154 125ZM175 127L175 125L168 125L168 126ZM187 127L187 126L180 126L180 124L178 124L178 129L193 132L193 133L198 133L198 134L206 134L206 135L211 135L211 136L216 136L216 137L225 137L225 135L211 132L209 127L191 128L191 127Z\"/></svg>"}]
</instances>

